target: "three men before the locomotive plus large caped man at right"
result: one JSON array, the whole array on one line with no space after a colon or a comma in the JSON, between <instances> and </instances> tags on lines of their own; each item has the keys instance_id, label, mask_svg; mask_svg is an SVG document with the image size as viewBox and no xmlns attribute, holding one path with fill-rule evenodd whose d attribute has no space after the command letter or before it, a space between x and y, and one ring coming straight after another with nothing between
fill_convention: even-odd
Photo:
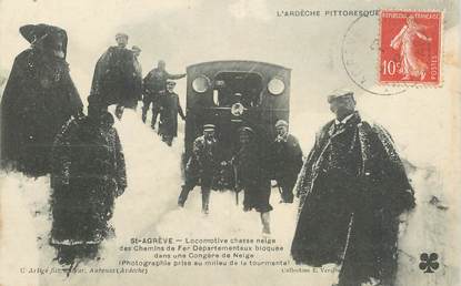
<instances>
[{"instance_id":1,"label":"three men before the locomotive plus large caped man at right","mask_svg":"<svg viewBox=\"0 0 461 286\"><path fill-rule=\"evenodd\" d=\"M300 205L291 255L298 264L342 265L338 286L393 285L399 216L415 206L414 192L392 137L361 119L353 93L335 90L328 103L335 119L321 127L303 162L285 121L277 122L278 135L269 149L258 131L241 126L231 162L235 191L243 190L244 211L261 214L264 234L270 233L271 178L277 180L283 202L293 202L294 192ZM206 214L220 164L214 131L214 125L206 124L203 135L196 139L178 200L183 206L200 182Z\"/></svg>"}]
</instances>

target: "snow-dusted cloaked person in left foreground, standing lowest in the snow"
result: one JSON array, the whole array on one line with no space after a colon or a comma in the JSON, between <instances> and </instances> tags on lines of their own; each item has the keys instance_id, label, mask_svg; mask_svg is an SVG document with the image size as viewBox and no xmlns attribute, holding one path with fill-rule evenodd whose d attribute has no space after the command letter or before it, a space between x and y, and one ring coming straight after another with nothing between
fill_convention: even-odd
<instances>
[{"instance_id":1,"label":"snow-dusted cloaked person in left foreground, standing lowest in the snow","mask_svg":"<svg viewBox=\"0 0 461 286\"><path fill-rule=\"evenodd\" d=\"M107 105L89 96L88 116L69 123L52 151L51 245L60 263L94 258L113 233L108 221L127 187L124 156Z\"/></svg>"}]
</instances>

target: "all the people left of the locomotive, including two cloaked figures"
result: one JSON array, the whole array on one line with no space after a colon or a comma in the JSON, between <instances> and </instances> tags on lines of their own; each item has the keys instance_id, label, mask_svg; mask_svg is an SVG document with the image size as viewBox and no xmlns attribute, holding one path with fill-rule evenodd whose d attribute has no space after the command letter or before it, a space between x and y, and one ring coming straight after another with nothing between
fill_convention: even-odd
<instances>
[{"instance_id":1,"label":"all the people left of the locomotive, including two cloaked figures","mask_svg":"<svg viewBox=\"0 0 461 286\"><path fill-rule=\"evenodd\" d=\"M152 110L160 110L160 134L171 145L178 113L184 114L170 80L184 74L169 74L160 61L142 80L141 49L127 49L128 35L118 33L117 45L96 64L84 114L66 61L66 30L27 24L20 33L30 48L17 55L1 98L1 166L31 177L50 174L50 244L60 263L72 264L77 257L94 257L113 234L114 198L128 185L108 106L114 104L121 120L123 110L136 109L142 99L146 119L153 103Z\"/></svg>"}]
</instances>

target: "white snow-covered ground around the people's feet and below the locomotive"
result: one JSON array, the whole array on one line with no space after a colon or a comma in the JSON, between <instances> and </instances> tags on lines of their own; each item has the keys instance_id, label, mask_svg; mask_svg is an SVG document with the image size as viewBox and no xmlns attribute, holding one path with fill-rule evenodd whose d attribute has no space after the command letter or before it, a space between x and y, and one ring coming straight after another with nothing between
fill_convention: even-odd
<instances>
[{"instance_id":1,"label":"white snow-covered ground around the people's feet and below the locomotive","mask_svg":"<svg viewBox=\"0 0 461 286\"><path fill-rule=\"evenodd\" d=\"M107 241L101 259L82 262L77 269L117 267L119 261L152 261L152 252L121 252L132 237L174 238L262 238L258 213L244 213L235 205L231 192L212 192L210 215L200 212L200 191L196 188L184 208L177 206L181 185L180 161L182 133L168 147L142 124L140 113L127 110L117 122L127 161L129 187L118 198L112 224L117 237ZM304 150L307 152L308 150ZM399 285L455 285L454 267L458 257L450 256L455 247L450 229L458 219L453 205L443 196L440 170L430 166L412 168L410 176L417 192L418 207L402 224L399 261ZM148 274L20 274L21 267L59 267L53 261L54 249L48 245L51 227L49 214L49 178L26 178L20 174L3 174L2 186L2 257L1 285L331 285L334 274L282 273L282 268L300 268L290 259L289 249L295 227L297 202L279 204L280 196L272 190L271 238L282 252L261 253L261 261L285 261L289 267L157 267ZM434 198L437 197L437 198ZM439 202L439 201L440 202ZM437 252L441 267L430 276L419 268L422 252ZM14 257L14 258L13 258ZM16 258L18 257L18 258ZM302 267L310 269L309 267ZM223 279L226 277L226 280ZM428 278L429 277L429 278ZM144 284L142 284L144 283Z\"/></svg>"}]
</instances>

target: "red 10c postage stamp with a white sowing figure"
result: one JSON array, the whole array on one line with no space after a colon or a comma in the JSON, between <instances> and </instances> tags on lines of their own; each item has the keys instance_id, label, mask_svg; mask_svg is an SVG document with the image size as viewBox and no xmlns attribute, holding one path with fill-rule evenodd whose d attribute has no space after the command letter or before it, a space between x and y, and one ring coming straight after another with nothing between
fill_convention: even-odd
<instances>
[{"instance_id":1,"label":"red 10c postage stamp with a white sowing figure","mask_svg":"<svg viewBox=\"0 0 461 286\"><path fill-rule=\"evenodd\" d=\"M440 84L442 13L381 11L380 83Z\"/></svg>"}]
</instances>

